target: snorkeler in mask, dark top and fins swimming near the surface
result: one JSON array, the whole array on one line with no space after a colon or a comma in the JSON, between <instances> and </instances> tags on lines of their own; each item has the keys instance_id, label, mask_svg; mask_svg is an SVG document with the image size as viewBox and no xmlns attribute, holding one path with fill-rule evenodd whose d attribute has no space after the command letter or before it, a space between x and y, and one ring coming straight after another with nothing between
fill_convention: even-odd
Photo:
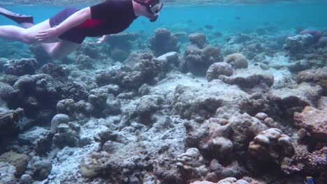
<instances>
[{"instance_id":1,"label":"snorkeler in mask, dark top and fins swimming near the surface","mask_svg":"<svg viewBox=\"0 0 327 184\"><path fill-rule=\"evenodd\" d=\"M34 24L29 15L0 8L1 15L22 26L0 26L0 38L41 43L52 58L61 59L77 49L87 36L102 36L97 43L103 43L110 34L127 29L138 16L155 22L162 6L160 0L107 0L83 9L64 8L39 24Z\"/></svg>"}]
</instances>

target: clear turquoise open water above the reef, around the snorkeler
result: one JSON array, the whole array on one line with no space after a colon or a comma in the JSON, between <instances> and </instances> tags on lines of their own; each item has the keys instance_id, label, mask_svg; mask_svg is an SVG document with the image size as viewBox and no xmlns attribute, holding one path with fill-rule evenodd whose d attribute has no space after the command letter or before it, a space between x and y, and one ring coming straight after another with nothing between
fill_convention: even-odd
<instances>
[{"instance_id":1,"label":"clear turquoise open water above the reef, around the snorkeler","mask_svg":"<svg viewBox=\"0 0 327 184\"><path fill-rule=\"evenodd\" d=\"M22 14L31 14L35 22L51 17L61 6L4 6ZM82 8L83 6L80 6ZM247 32L260 26L273 26L280 31L289 31L298 26L303 28L326 29L327 2L309 3L263 3L221 6L166 6L161 17L155 23L139 18L126 31L153 33L154 29L163 26L173 31L219 31ZM240 19L235 19L240 17ZM13 24L10 20L0 17L0 24ZM203 28L212 25L212 30Z\"/></svg>"}]
</instances>

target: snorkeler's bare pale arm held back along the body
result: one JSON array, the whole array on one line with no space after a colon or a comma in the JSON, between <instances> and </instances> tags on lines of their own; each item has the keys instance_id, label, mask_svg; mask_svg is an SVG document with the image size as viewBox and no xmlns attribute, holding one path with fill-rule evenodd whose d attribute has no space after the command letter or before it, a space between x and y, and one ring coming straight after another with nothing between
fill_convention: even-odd
<instances>
[{"instance_id":1,"label":"snorkeler's bare pale arm held back along the body","mask_svg":"<svg viewBox=\"0 0 327 184\"><path fill-rule=\"evenodd\" d=\"M38 41L57 38L59 35L65 33L74 26L78 26L79 24L82 24L82 22L85 22L85 20L91 19L91 17L91 9L89 7L83 8L68 17L64 22L61 22L59 26L38 32L35 38Z\"/></svg>"}]
</instances>

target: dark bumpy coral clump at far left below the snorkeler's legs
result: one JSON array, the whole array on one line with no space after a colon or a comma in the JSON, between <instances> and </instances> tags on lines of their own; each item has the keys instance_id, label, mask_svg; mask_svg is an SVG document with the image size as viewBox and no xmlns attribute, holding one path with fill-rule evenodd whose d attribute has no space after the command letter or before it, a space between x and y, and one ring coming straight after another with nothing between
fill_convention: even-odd
<instances>
[{"instance_id":1,"label":"dark bumpy coral clump at far left below the snorkeler's legs","mask_svg":"<svg viewBox=\"0 0 327 184\"><path fill-rule=\"evenodd\" d=\"M3 72L7 75L34 75L37 65L36 59L10 60L3 65Z\"/></svg>"}]
</instances>

